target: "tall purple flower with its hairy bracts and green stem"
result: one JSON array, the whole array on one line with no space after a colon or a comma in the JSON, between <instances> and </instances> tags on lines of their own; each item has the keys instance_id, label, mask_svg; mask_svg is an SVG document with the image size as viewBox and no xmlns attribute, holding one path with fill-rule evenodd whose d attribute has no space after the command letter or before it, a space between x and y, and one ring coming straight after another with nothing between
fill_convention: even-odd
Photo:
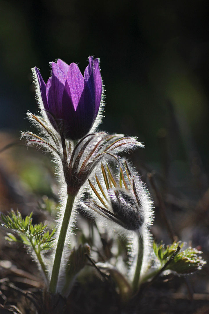
<instances>
[{"instance_id":1,"label":"tall purple flower with its hairy bracts and green stem","mask_svg":"<svg viewBox=\"0 0 209 314\"><path fill-rule=\"evenodd\" d=\"M66 275L65 266L68 264L65 257L71 244L70 235L73 233L76 219L75 206L81 204L80 197L86 190L88 177L100 161L118 161L116 154L143 145L136 138L124 137L123 134L95 132L100 122L102 107L99 59L93 60L93 57L89 57L84 76L75 63L67 65L58 59L56 63L51 63L51 67L52 74L47 84L44 83L39 70L33 69L41 114L36 116L29 112L28 117L41 133L24 132L22 136L26 136L28 145L36 144L52 153L57 165L57 174L63 183L62 206L59 209L57 237L53 247L54 262L49 263L51 278L47 277L47 280L50 280L49 291L60 293L63 292L63 276ZM77 143L70 143L66 139L79 140ZM112 203L114 201L115 199L112 199ZM120 208L115 205L114 210L117 212ZM121 216L119 213L118 217L119 222L122 221L123 224L123 214ZM138 217L137 226L140 227L143 222L139 220ZM129 230L134 228L129 225L128 227Z\"/></svg>"}]
</instances>

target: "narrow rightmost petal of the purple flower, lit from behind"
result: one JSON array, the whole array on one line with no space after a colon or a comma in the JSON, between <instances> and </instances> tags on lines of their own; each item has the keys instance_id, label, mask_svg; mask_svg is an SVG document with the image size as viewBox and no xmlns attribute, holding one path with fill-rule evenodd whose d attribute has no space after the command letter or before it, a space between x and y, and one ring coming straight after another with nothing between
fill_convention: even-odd
<instances>
[{"instance_id":1,"label":"narrow rightmost petal of the purple flower, lit from behind","mask_svg":"<svg viewBox=\"0 0 209 314\"><path fill-rule=\"evenodd\" d=\"M94 59L94 88L95 88L95 119L99 111L99 106L102 98L102 77L99 68L99 59Z\"/></svg>"}]
</instances>

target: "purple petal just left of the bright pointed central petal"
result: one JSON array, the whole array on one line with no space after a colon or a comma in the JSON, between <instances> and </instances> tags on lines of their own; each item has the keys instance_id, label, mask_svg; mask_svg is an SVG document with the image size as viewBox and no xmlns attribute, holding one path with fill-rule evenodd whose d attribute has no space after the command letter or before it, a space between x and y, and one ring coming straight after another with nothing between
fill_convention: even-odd
<instances>
[{"instance_id":1,"label":"purple petal just left of the bright pointed central petal","mask_svg":"<svg viewBox=\"0 0 209 314\"><path fill-rule=\"evenodd\" d=\"M48 82L46 84L46 97L48 101L49 111L53 115L55 115L56 118L61 118L62 96L66 76L58 64L52 62L51 66L52 76L48 79Z\"/></svg>"}]
</instances>

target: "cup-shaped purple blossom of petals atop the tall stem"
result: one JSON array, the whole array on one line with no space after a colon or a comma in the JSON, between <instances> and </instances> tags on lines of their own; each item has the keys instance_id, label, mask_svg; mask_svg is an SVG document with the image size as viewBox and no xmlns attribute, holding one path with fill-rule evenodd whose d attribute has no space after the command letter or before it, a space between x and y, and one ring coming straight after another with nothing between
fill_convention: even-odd
<instances>
[{"instance_id":1,"label":"cup-shaped purple blossom of petals atop the tall stem","mask_svg":"<svg viewBox=\"0 0 209 314\"><path fill-rule=\"evenodd\" d=\"M76 63L61 59L51 62L52 75L47 84L37 68L40 94L50 123L60 128L66 139L83 138L93 126L102 97L99 59L89 57L84 77ZM61 126L61 127L60 127Z\"/></svg>"}]
</instances>

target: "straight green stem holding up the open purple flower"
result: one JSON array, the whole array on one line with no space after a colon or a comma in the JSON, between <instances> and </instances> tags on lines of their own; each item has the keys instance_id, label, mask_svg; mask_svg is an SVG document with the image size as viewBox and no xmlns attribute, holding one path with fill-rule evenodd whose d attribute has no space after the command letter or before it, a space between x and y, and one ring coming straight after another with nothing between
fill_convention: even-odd
<instances>
[{"instance_id":1,"label":"straight green stem holding up the open purple flower","mask_svg":"<svg viewBox=\"0 0 209 314\"><path fill-rule=\"evenodd\" d=\"M62 258L62 252L65 244L65 237L67 234L67 229L69 225L69 221L71 218L71 212L73 208L73 203L74 203L75 196L69 194L67 197L67 204L65 208L65 214L62 220L62 225L60 229L60 235L59 239L57 242L57 248L55 252L55 259L54 259L54 264L52 268L52 274L51 274L51 281L50 281L50 292L56 293L56 287L57 287L57 281L58 281L58 276L60 272L60 263L61 263L61 258Z\"/></svg>"}]
</instances>

